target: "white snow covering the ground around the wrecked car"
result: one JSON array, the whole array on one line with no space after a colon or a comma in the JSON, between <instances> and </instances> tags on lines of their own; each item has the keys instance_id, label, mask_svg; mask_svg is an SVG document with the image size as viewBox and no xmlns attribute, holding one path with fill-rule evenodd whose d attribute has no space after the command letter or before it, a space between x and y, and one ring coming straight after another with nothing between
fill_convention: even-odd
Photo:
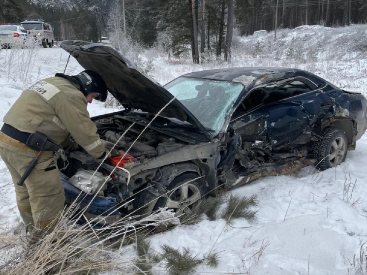
<instances>
[{"instance_id":1,"label":"white snow covering the ground around the wrecked car","mask_svg":"<svg viewBox=\"0 0 367 275\"><path fill-rule=\"evenodd\" d=\"M274 33L237 38L232 64L214 60L193 65L189 58L169 61L154 49L141 52L139 62L161 84L194 70L265 65L307 69L343 89L363 92L367 91L365 29L366 25L280 30L276 42ZM63 72L67 58L58 47L1 50L0 125L22 90L38 79ZM66 73L81 70L70 59ZM98 102L88 108L91 116L113 111ZM237 219L229 226L224 220L203 220L181 225L152 236L152 249L159 251L162 244L188 246L199 256L217 251L218 267L200 267L196 274L366 275L366 167L365 134L336 169L318 172L309 166L293 175L265 177L233 190L258 196L255 222ZM12 184L0 161L0 248L19 236L22 228ZM123 250L125 259L134 256L132 246ZM0 255L5 257L5 253L6 246ZM166 271L157 265L153 274Z\"/></svg>"}]
</instances>

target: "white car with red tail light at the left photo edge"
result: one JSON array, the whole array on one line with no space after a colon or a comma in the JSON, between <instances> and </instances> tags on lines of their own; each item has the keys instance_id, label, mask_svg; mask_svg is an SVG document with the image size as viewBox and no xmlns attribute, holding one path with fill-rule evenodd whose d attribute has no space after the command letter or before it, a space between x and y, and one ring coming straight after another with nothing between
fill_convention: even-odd
<instances>
[{"instance_id":1,"label":"white car with red tail light at the left photo edge","mask_svg":"<svg viewBox=\"0 0 367 275\"><path fill-rule=\"evenodd\" d=\"M20 24L0 24L1 48L23 47L27 39L28 33Z\"/></svg>"}]
</instances>

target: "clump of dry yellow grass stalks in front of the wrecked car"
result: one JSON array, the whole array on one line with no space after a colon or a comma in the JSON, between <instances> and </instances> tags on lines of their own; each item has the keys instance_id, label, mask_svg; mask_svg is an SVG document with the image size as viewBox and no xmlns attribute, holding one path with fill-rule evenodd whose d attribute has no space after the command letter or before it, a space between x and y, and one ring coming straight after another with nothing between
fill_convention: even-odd
<instances>
[{"instance_id":1,"label":"clump of dry yellow grass stalks in front of the wrecked car","mask_svg":"<svg viewBox=\"0 0 367 275\"><path fill-rule=\"evenodd\" d=\"M97 218L90 223L75 226L68 218L68 210L64 213L51 234L36 245L17 251L0 266L0 274L79 275L111 270L125 272L132 267L130 261L111 260L110 252L116 240L122 244L131 234L137 235L148 227L179 222L174 213L161 209L141 220L122 218L103 229L94 229L91 224Z\"/></svg>"}]
</instances>

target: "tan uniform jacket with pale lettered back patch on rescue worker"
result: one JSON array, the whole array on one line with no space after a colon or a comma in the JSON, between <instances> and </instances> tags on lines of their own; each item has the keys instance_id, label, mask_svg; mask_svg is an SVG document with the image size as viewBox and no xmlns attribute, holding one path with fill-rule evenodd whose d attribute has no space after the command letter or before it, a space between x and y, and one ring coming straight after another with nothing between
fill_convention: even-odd
<instances>
[{"instance_id":1,"label":"tan uniform jacket with pale lettered back patch on rescue worker","mask_svg":"<svg viewBox=\"0 0 367 275\"><path fill-rule=\"evenodd\" d=\"M92 157L99 158L105 148L77 85L62 77L40 80L21 94L3 122L23 132L39 131L58 145L71 134Z\"/></svg>"}]
</instances>

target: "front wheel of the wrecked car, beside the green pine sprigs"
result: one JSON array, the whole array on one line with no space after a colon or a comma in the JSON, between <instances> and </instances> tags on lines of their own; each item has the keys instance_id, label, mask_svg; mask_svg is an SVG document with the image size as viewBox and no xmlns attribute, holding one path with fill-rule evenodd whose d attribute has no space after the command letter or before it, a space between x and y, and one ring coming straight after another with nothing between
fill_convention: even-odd
<instances>
[{"instance_id":1,"label":"front wheel of the wrecked car, beside the green pine sprigs","mask_svg":"<svg viewBox=\"0 0 367 275\"><path fill-rule=\"evenodd\" d=\"M205 182L195 173L177 176L167 187L167 197L160 197L154 210L160 207L173 209L180 220L190 218L206 195Z\"/></svg>"}]
</instances>

